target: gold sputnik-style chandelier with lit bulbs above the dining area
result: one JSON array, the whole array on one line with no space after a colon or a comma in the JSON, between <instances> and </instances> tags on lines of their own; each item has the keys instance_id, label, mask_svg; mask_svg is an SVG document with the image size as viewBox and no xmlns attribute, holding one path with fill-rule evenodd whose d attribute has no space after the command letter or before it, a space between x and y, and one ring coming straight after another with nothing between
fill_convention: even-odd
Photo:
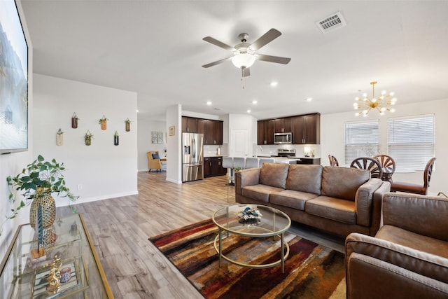
<instances>
[{"instance_id":1,"label":"gold sputnik-style chandelier with lit bulbs above the dining area","mask_svg":"<svg viewBox=\"0 0 448 299\"><path fill-rule=\"evenodd\" d=\"M363 109L363 111L357 112L355 115L360 116L362 114L363 116L367 116L371 109L378 110L381 116L383 116L386 111L395 112L395 109L390 107L397 102L397 98L393 97L395 93L387 93L386 90L383 90L379 97L375 97L375 84L377 84L377 81L370 82L370 84L372 85L372 99L367 96L367 93L364 93L361 98L356 97L356 102L353 103L353 107L356 110Z\"/></svg>"}]
</instances>

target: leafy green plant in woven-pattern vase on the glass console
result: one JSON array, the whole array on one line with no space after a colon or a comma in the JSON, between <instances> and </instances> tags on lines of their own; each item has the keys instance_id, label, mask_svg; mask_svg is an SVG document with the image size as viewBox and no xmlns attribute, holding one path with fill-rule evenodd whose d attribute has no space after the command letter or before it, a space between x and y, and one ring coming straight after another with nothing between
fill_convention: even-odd
<instances>
[{"instance_id":1,"label":"leafy green plant in woven-pattern vase on the glass console","mask_svg":"<svg viewBox=\"0 0 448 299\"><path fill-rule=\"evenodd\" d=\"M36 212L40 204L45 214L43 216L43 226L48 227L52 225L56 216L55 200L51 196L53 193L58 197L69 198L69 206L73 212L76 212L71 203L76 202L78 196L73 195L66 186L64 175L62 174L64 169L64 163L59 163L55 159L48 161L42 155L38 155L37 159L22 169L20 174L8 176L6 181L9 186L9 201L14 204L17 200L18 192L24 199L20 201L20 204L15 209L11 209L11 214L6 216L6 221L15 218L20 210L31 204L29 223L34 227L36 224Z\"/></svg>"}]
</instances>

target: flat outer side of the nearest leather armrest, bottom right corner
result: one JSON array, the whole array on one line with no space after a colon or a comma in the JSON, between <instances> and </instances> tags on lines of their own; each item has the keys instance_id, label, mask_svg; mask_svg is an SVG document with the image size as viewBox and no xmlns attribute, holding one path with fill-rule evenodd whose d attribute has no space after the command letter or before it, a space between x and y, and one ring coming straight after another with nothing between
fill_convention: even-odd
<instances>
[{"instance_id":1,"label":"flat outer side of the nearest leather armrest, bottom right corner","mask_svg":"<svg viewBox=\"0 0 448 299\"><path fill-rule=\"evenodd\" d=\"M448 284L383 260L351 253L346 265L346 298L447 298Z\"/></svg>"}]
</instances>

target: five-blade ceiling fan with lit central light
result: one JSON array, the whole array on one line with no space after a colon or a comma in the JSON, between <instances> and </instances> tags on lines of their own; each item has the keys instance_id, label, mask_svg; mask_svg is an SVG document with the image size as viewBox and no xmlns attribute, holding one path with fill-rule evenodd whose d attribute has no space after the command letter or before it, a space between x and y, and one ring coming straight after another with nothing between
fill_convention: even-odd
<instances>
[{"instance_id":1,"label":"five-blade ceiling fan with lit central light","mask_svg":"<svg viewBox=\"0 0 448 299\"><path fill-rule=\"evenodd\" d=\"M263 34L260 39L257 39L253 43L247 43L246 41L248 39L248 34L241 33L238 36L241 43L237 44L237 46L235 47L231 47L225 43L222 43L221 41L218 41L211 36L206 36L203 39L204 41L208 41L209 43L213 43L215 46L218 46L225 50L229 50L230 52L232 52L232 56L224 58L222 60L217 60L216 62L204 64L202 67L213 67L216 64L221 64L227 60L232 60L232 63L235 65L235 67L241 69L241 76L247 77L251 75L249 67L251 67L255 60L288 64L288 62L290 62L291 60L290 58L256 53L256 51L258 51L260 48L266 46L267 43L270 43L279 36L281 36L281 32L272 28L268 32Z\"/></svg>"}]
</instances>

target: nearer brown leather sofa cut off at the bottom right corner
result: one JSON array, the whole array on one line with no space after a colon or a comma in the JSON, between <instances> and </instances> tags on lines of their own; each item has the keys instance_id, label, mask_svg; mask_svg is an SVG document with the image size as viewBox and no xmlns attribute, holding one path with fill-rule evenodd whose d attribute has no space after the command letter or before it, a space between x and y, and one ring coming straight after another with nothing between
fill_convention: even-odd
<instances>
[{"instance_id":1,"label":"nearer brown leather sofa cut off at the bottom right corner","mask_svg":"<svg viewBox=\"0 0 448 299\"><path fill-rule=\"evenodd\" d=\"M448 200L386 193L374 237L346 237L346 298L448 298Z\"/></svg>"}]
</instances>

